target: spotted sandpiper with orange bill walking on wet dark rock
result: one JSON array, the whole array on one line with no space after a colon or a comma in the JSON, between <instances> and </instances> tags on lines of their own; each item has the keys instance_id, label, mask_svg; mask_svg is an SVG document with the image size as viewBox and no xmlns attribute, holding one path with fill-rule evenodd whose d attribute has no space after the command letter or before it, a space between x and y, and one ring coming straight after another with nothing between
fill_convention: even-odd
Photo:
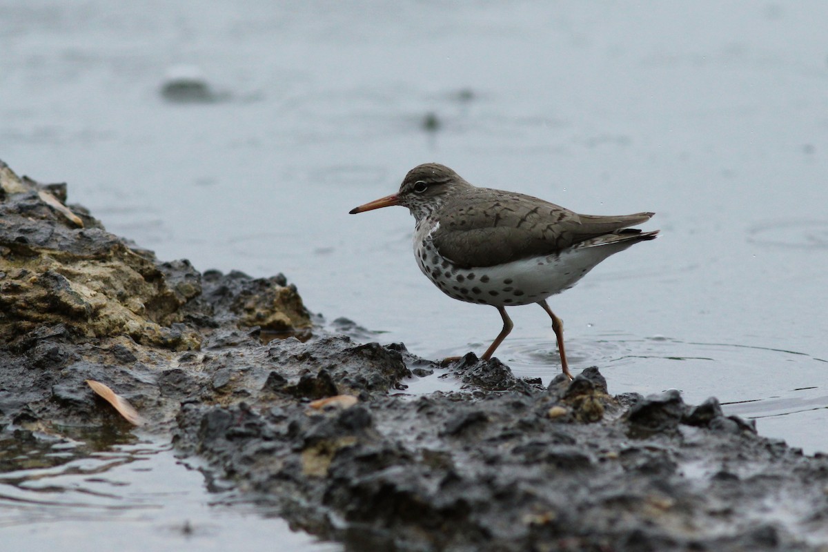
<instances>
[{"instance_id":1,"label":"spotted sandpiper with orange bill walking on wet dark rock","mask_svg":"<svg viewBox=\"0 0 828 552\"><path fill-rule=\"evenodd\" d=\"M577 214L530 195L478 188L437 163L414 167L397 194L350 213L390 205L407 207L416 219L414 256L423 274L446 295L492 305L503 318L503 329L482 359L492 358L512 331L506 307L537 303L552 319L561 368L570 379L563 323L546 298L575 286L610 255L658 233L628 228L652 213Z\"/></svg>"}]
</instances>

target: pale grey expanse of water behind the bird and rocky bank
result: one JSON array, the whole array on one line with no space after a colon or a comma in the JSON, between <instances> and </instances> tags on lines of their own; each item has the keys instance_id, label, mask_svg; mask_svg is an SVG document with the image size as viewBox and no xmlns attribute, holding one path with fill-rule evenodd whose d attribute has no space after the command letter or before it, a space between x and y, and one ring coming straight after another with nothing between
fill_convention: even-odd
<instances>
[{"instance_id":1,"label":"pale grey expanse of water behind the bird and rocky bank","mask_svg":"<svg viewBox=\"0 0 828 552\"><path fill-rule=\"evenodd\" d=\"M481 352L500 319L421 275L404 209L347 214L412 166L585 213L655 211L659 239L550 301L575 372L718 396L826 451L826 16L816 0L0 1L0 158L68 181L160 258L282 271L311 310L428 358ZM161 96L181 64L214 101ZM511 315L497 356L548 381L548 317Z\"/></svg>"}]
</instances>

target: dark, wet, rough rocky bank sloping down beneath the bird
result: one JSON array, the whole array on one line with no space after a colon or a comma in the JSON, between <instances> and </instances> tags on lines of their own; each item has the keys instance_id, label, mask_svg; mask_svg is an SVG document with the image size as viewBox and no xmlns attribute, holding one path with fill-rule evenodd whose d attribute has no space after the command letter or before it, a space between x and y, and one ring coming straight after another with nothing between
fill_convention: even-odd
<instances>
[{"instance_id":1,"label":"dark, wet, rough rocky bank sloping down beneath the bird","mask_svg":"<svg viewBox=\"0 0 828 552\"><path fill-rule=\"evenodd\" d=\"M4 165L0 185L4 449L128 434L94 379L208 478L352 550L828 550L828 458L715 399L611 396L596 368L544 388L474 355L462 391L407 396L436 365L314 325L284 276L159 262L62 207L65 186Z\"/></svg>"}]
</instances>

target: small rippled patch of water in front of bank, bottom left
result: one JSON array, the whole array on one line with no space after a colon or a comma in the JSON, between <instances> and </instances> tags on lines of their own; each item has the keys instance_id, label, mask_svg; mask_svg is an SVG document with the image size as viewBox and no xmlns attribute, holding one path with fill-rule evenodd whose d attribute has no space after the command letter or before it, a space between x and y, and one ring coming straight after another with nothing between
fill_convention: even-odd
<instances>
[{"instance_id":1,"label":"small rippled patch of water in front of bank, bottom left","mask_svg":"<svg viewBox=\"0 0 828 552\"><path fill-rule=\"evenodd\" d=\"M0 436L3 550L342 550L293 532L267 505L205 488L168 439L111 426ZM232 506L232 507L231 507ZM105 524L98 523L106 521ZM89 523L95 523L90 526Z\"/></svg>"}]
</instances>

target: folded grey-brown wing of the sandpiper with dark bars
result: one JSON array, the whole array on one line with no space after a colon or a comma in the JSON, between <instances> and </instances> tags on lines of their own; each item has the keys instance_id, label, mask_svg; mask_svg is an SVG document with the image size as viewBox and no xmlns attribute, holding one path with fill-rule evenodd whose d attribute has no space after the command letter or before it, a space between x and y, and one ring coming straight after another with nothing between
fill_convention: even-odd
<instances>
[{"instance_id":1,"label":"folded grey-brown wing of the sandpiper with dark bars","mask_svg":"<svg viewBox=\"0 0 828 552\"><path fill-rule=\"evenodd\" d=\"M456 199L441 209L440 228L431 238L440 255L460 266L550 255L652 216L580 215L532 196L480 188Z\"/></svg>"}]
</instances>

